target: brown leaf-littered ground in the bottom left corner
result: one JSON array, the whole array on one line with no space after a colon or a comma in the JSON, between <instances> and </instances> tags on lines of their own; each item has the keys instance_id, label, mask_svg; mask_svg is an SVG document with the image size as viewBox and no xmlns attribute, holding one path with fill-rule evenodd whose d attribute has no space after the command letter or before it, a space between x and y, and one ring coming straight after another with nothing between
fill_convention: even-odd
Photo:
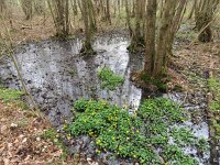
<instances>
[{"instance_id":1,"label":"brown leaf-littered ground in the bottom left corner","mask_svg":"<svg viewBox=\"0 0 220 165\"><path fill-rule=\"evenodd\" d=\"M47 120L31 110L1 100L0 165L67 164L62 160L64 150L53 141L55 138L44 135L51 128Z\"/></svg>"}]
</instances>

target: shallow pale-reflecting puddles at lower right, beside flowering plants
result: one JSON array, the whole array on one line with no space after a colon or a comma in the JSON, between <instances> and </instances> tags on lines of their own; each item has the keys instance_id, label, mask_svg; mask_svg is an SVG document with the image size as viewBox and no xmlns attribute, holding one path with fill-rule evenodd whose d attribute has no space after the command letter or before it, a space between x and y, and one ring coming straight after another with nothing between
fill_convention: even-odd
<instances>
[{"instance_id":1,"label":"shallow pale-reflecting puddles at lower right, beside flowering plants","mask_svg":"<svg viewBox=\"0 0 220 165\"><path fill-rule=\"evenodd\" d=\"M169 98L175 102L179 103L182 108L189 112L189 120L184 123L174 125L177 128L188 128L193 134L200 139L209 139L209 125L206 119L206 97L198 92L197 96L194 94L172 92L163 95L165 98ZM183 151L189 155L193 155L200 165L209 165L210 152L207 151L202 155L196 147L184 147Z\"/></svg>"}]
</instances>

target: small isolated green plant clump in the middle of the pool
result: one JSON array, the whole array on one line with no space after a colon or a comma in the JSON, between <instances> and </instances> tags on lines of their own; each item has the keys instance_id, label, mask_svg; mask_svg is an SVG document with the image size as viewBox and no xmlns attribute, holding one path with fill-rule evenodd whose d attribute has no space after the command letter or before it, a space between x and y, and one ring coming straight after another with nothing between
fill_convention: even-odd
<instances>
[{"instance_id":1,"label":"small isolated green plant clump in the middle of the pool","mask_svg":"<svg viewBox=\"0 0 220 165\"><path fill-rule=\"evenodd\" d=\"M114 90L117 87L123 84L124 79L120 75L116 75L110 68L105 67L98 72L98 77L101 81L101 87Z\"/></svg>"}]
</instances>

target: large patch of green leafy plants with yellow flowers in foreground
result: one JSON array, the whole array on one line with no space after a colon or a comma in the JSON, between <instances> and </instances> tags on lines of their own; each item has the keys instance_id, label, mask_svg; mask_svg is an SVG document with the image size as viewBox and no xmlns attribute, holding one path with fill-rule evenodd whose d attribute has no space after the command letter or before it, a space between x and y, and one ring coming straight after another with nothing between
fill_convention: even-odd
<instances>
[{"instance_id":1,"label":"large patch of green leafy plants with yellow flowers in foreground","mask_svg":"<svg viewBox=\"0 0 220 165\"><path fill-rule=\"evenodd\" d=\"M73 123L65 129L72 136L89 135L101 153L113 152L119 157L132 157L141 164L197 165L183 146L197 146L190 130L170 127L187 119L186 113L168 99L147 99L136 114L99 100L80 99L74 105ZM170 138L174 143L169 143ZM157 151L160 152L157 153ZM162 161L163 160L163 161Z\"/></svg>"}]
</instances>

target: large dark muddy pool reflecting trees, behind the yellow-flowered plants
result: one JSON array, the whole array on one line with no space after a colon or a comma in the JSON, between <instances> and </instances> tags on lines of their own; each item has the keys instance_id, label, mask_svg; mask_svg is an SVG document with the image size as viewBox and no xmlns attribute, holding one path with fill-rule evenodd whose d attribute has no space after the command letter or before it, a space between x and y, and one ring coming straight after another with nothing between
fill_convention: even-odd
<instances>
[{"instance_id":1,"label":"large dark muddy pool reflecting trees, behind the yellow-flowered plants","mask_svg":"<svg viewBox=\"0 0 220 165\"><path fill-rule=\"evenodd\" d=\"M82 57L77 54L80 50L78 40L47 41L29 44L18 51L15 56L34 99L48 112L51 121L59 124L63 118L70 117L69 109L79 98L100 98L119 106L139 105L141 90L136 89L129 78L131 70L140 67L142 62L136 55L129 56L128 44L128 41L121 37L114 37L110 42L108 38L101 38L95 43L98 54ZM97 72L105 66L124 77L123 85L113 91L100 87ZM13 67L10 69L13 70ZM4 76L3 73L7 72L0 72L1 77ZM15 86L14 80L9 84Z\"/></svg>"}]
</instances>

